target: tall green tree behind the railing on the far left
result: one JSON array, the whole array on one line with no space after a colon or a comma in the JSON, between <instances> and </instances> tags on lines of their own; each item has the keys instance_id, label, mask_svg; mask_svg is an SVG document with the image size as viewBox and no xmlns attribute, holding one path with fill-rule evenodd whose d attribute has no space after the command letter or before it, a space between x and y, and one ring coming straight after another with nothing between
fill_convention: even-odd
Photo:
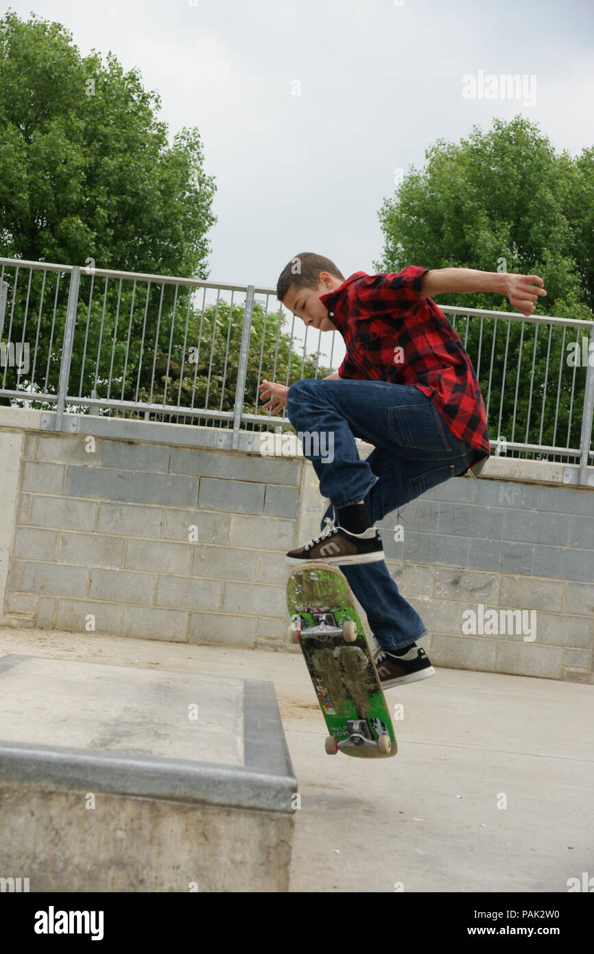
<instances>
[{"instance_id":1,"label":"tall green tree behind the railing on the far left","mask_svg":"<svg viewBox=\"0 0 594 954\"><path fill-rule=\"evenodd\" d=\"M105 61L94 51L83 57L60 24L35 15L23 22L6 13L0 19L0 254L207 279L214 178L204 173L197 130L183 129L170 145L167 127L157 119L159 107L159 97L143 89L139 73L125 73L112 53ZM3 272L9 308L0 338L10 333L11 342L31 341L31 324L39 316L31 342L35 389L55 393L68 279L56 273L29 276L15 268ZM103 311L102 345L128 314L129 286L121 293L115 281L103 301L95 292L90 313ZM78 321L81 309L82 304ZM144 321L154 337L159 321L154 301ZM76 347L79 342L80 336ZM88 342L81 378L86 396L95 383L88 363L95 343ZM118 360L126 360L123 345L120 351L115 369ZM147 367L137 357L132 340L127 371L139 370L139 385L150 388ZM101 352L96 360L105 380L110 364L103 366ZM82 362L82 352L75 353L73 373ZM31 384L31 377L17 380L14 369L4 380L10 389Z\"/></svg>"}]
</instances>

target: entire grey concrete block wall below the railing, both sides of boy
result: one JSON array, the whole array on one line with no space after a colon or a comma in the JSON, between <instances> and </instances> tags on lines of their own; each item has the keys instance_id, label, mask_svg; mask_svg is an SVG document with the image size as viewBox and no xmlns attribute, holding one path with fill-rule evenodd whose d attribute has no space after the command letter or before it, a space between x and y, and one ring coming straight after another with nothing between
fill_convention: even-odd
<instances>
[{"instance_id":1,"label":"entire grey concrete block wall below the railing, both sides of boy","mask_svg":"<svg viewBox=\"0 0 594 954\"><path fill-rule=\"evenodd\" d=\"M218 449L216 428L67 417L85 432L0 409L0 622L298 652L284 553L317 533L327 502L297 447L269 457L256 436L250 451ZM203 446L183 446L189 432ZM594 682L594 487L564 484L566 470L491 458L479 480L379 524L437 666ZM535 637L468 633L480 607L534 611Z\"/></svg>"}]
</instances>

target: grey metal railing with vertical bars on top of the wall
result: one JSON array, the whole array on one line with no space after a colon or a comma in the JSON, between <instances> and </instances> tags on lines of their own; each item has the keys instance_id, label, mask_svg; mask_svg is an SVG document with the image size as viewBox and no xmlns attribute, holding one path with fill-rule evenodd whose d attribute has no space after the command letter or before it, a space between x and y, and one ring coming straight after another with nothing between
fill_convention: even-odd
<instances>
[{"instance_id":1,"label":"grey metal railing with vertical bars on top of the wall","mask_svg":"<svg viewBox=\"0 0 594 954\"><path fill-rule=\"evenodd\" d=\"M481 381L496 453L578 463L585 484L594 322L440 307ZM0 259L0 401L54 410L56 430L66 411L208 423L237 447L241 429L290 426L262 412L263 377L336 369L339 333L311 338L273 288Z\"/></svg>"}]
</instances>

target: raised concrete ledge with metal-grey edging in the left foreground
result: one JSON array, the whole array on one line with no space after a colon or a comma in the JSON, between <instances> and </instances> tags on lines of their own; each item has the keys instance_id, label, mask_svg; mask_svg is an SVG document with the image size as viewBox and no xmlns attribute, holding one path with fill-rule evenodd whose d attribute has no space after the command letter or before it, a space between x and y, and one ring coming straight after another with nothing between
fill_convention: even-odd
<instances>
[{"instance_id":1,"label":"raised concrete ledge with metal-grey edging in the left foreground","mask_svg":"<svg viewBox=\"0 0 594 954\"><path fill-rule=\"evenodd\" d=\"M271 682L9 654L0 687L6 877L287 890L297 781Z\"/></svg>"}]
</instances>

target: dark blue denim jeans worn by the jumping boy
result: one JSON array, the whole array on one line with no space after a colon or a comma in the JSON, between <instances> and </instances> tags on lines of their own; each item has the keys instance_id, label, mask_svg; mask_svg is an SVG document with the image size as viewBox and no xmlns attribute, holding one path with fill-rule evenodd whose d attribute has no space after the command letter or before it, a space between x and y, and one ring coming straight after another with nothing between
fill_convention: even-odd
<instances>
[{"instance_id":1,"label":"dark blue denim jeans worn by the jumping boy","mask_svg":"<svg viewBox=\"0 0 594 954\"><path fill-rule=\"evenodd\" d=\"M449 431L437 408L414 385L297 381L288 391L287 414L317 473L319 492L330 499L320 529L338 508L359 500L364 500L376 524L481 457L480 451ZM308 439L307 433L318 439ZM355 437L375 445L367 460L359 458ZM382 649L398 649L427 633L383 560L345 564L340 570Z\"/></svg>"}]
</instances>

